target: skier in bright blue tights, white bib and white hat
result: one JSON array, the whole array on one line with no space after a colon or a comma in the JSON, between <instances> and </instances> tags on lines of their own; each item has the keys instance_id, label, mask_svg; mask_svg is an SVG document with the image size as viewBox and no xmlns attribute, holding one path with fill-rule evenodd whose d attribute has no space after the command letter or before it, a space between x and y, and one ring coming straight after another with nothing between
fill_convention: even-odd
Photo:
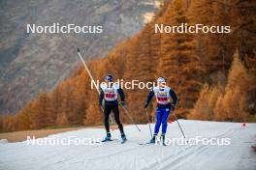
<instances>
[{"instance_id":1,"label":"skier in bright blue tights, white bib and white hat","mask_svg":"<svg viewBox=\"0 0 256 170\"><path fill-rule=\"evenodd\" d=\"M166 86L166 81L164 77L159 77L157 79L158 86L154 87L148 94L147 99L144 102L144 108L147 107L150 100L155 96L157 101L157 110L156 110L156 124L154 128L154 135L150 140L150 143L155 143L159 128L162 125L162 134L161 138L163 144L165 145L165 134L167 131L167 121L171 109L176 107L176 93L170 87ZM172 101L172 99L173 101Z\"/></svg>"}]
</instances>

